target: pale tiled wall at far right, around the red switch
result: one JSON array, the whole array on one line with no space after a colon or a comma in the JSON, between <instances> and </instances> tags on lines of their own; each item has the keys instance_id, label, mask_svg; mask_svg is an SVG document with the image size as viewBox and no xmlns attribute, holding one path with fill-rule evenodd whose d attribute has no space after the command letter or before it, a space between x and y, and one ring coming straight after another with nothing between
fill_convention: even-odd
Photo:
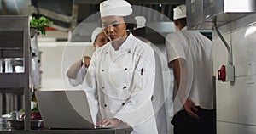
<instances>
[{"instance_id":1,"label":"pale tiled wall at far right, around the red switch","mask_svg":"<svg viewBox=\"0 0 256 134\"><path fill-rule=\"evenodd\" d=\"M233 51L236 80L216 82L217 133L256 133L256 14L218 26ZM227 64L224 43L213 31L214 73ZM252 74L252 75L249 75Z\"/></svg>"}]
</instances>

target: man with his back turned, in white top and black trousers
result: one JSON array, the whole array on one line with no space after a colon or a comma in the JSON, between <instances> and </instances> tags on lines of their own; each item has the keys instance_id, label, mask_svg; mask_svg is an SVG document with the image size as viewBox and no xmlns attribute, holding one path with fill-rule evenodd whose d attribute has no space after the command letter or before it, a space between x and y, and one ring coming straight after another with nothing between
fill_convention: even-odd
<instances>
[{"instance_id":1,"label":"man with his back turned, in white top and black trousers","mask_svg":"<svg viewBox=\"0 0 256 134\"><path fill-rule=\"evenodd\" d=\"M177 87L174 134L213 134L212 42L198 31L187 30L185 5L173 11L177 31L166 36L166 52Z\"/></svg>"}]
</instances>

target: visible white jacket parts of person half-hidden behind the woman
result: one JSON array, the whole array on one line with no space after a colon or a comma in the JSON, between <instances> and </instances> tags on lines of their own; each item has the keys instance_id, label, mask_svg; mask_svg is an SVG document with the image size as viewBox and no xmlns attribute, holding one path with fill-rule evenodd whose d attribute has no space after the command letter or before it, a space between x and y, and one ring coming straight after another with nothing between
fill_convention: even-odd
<instances>
[{"instance_id":1,"label":"visible white jacket parts of person half-hidden behind the woman","mask_svg":"<svg viewBox=\"0 0 256 134\"><path fill-rule=\"evenodd\" d=\"M93 47L92 44L90 45L87 45L84 49L84 56L88 56L88 57L92 57L92 54L95 52L95 47ZM76 87L76 86L79 86L80 84L83 83L84 81L84 77L85 77L85 74L87 72L87 68L85 68L84 65L82 65L82 67L80 68L80 70L78 71L77 73L77 77L75 79L72 79L72 78L68 78L68 81L70 83L70 85L72 85L73 87Z\"/></svg>"}]
</instances>

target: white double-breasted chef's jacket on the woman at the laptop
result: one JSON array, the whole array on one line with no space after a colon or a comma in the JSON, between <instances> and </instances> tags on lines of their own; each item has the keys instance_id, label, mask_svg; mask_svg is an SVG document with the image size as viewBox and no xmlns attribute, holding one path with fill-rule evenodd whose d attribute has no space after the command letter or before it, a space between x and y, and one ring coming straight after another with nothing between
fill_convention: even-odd
<instances>
[{"instance_id":1,"label":"white double-breasted chef's jacket on the woman at the laptop","mask_svg":"<svg viewBox=\"0 0 256 134\"><path fill-rule=\"evenodd\" d=\"M132 133L157 134L151 96L154 89L154 52L131 33L114 50L111 42L93 54L83 87L96 117L117 118Z\"/></svg>"}]
</instances>

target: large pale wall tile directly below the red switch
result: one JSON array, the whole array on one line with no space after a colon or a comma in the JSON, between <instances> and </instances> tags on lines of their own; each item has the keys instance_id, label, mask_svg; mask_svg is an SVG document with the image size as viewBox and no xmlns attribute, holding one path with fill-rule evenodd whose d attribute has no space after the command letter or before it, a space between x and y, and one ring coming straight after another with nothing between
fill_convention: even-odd
<instances>
[{"instance_id":1,"label":"large pale wall tile directly below the red switch","mask_svg":"<svg viewBox=\"0 0 256 134\"><path fill-rule=\"evenodd\" d=\"M217 81L217 120L256 126L256 85L236 77L234 86Z\"/></svg>"}]
</instances>

